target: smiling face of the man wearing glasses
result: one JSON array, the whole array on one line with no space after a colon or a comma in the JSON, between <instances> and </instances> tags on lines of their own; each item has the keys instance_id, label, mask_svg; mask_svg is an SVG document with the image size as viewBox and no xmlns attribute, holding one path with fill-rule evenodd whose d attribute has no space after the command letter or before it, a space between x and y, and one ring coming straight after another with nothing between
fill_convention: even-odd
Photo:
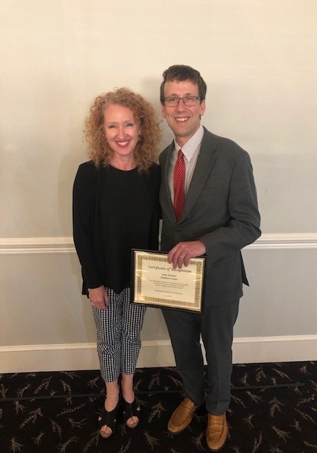
<instances>
[{"instance_id":1,"label":"smiling face of the man wearing glasses","mask_svg":"<svg viewBox=\"0 0 317 453\"><path fill-rule=\"evenodd\" d=\"M164 98L184 96L199 96L198 86L190 80L185 81L168 81L164 85ZM183 144L195 134L200 127L200 116L204 115L205 102L197 101L193 107L187 107L183 100L180 99L175 107L168 107L161 104L161 111L168 122L169 127L175 134L176 142L183 147Z\"/></svg>"}]
</instances>

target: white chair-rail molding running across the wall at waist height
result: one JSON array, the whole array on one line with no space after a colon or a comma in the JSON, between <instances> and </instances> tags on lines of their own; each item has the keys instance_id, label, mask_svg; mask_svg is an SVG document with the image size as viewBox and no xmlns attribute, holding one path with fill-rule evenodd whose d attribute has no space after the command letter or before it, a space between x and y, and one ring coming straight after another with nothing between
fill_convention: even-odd
<instances>
[{"instance_id":1,"label":"white chair-rail molding running across the wall at waist height","mask_svg":"<svg viewBox=\"0 0 317 453\"><path fill-rule=\"evenodd\" d=\"M317 233L263 234L258 241L246 246L250 250L317 248ZM37 253L75 253L70 237L0 238L0 255Z\"/></svg>"}]
</instances>

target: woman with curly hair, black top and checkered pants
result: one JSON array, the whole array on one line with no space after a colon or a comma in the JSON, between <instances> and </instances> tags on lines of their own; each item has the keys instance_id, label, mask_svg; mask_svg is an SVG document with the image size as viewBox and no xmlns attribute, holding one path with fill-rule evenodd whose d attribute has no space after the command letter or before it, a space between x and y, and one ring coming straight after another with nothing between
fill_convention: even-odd
<instances>
[{"instance_id":1,"label":"woman with curly hair, black top and checkered pants","mask_svg":"<svg viewBox=\"0 0 317 453\"><path fill-rule=\"evenodd\" d=\"M106 398L100 435L115 430L122 394L128 428L139 423L133 377L145 308L129 303L131 249L158 249L161 130L154 109L127 88L98 96L86 119L91 161L74 181L74 243L93 307ZM120 380L119 380L120 379Z\"/></svg>"}]
</instances>

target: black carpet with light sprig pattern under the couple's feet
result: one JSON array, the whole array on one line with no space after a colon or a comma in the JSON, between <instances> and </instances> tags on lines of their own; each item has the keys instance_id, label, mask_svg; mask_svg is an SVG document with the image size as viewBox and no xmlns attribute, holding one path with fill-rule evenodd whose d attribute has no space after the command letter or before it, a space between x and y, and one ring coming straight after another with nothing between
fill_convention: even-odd
<instances>
[{"instance_id":1,"label":"black carpet with light sprig pattern under the couple's feet","mask_svg":"<svg viewBox=\"0 0 317 453\"><path fill-rule=\"evenodd\" d=\"M0 376L1 453L208 452L201 407L180 435L168 418L183 398L174 368L138 369L135 390L142 407L137 428L118 415L103 440L97 418L103 406L98 370ZM235 365L228 413L229 440L221 453L317 453L317 362Z\"/></svg>"}]
</instances>

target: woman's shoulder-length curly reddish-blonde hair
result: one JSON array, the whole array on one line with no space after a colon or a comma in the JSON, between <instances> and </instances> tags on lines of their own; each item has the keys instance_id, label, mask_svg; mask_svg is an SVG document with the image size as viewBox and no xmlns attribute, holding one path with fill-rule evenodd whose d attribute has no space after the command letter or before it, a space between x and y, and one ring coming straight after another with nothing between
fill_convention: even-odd
<instances>
[{"instance_id":1,"label":"woman's shoulder-length curly reddish-blonde hair","mask_svg":"<svg viewBox=\"0 0 317 453\"><path fill-rule=\"evenodd\" d=\"M113 104L132 110L135 119L139 122L139 142L134 149L134 156L139 171L146 171L158 159L161 127L152 105L128 88L116 88L115 91L104 93L98 96L91 106L84 131L88 143L88 156L96 166L109 165L113 149L105 137L103 123L106 108Z\"/></svg>"}]
</instances>

